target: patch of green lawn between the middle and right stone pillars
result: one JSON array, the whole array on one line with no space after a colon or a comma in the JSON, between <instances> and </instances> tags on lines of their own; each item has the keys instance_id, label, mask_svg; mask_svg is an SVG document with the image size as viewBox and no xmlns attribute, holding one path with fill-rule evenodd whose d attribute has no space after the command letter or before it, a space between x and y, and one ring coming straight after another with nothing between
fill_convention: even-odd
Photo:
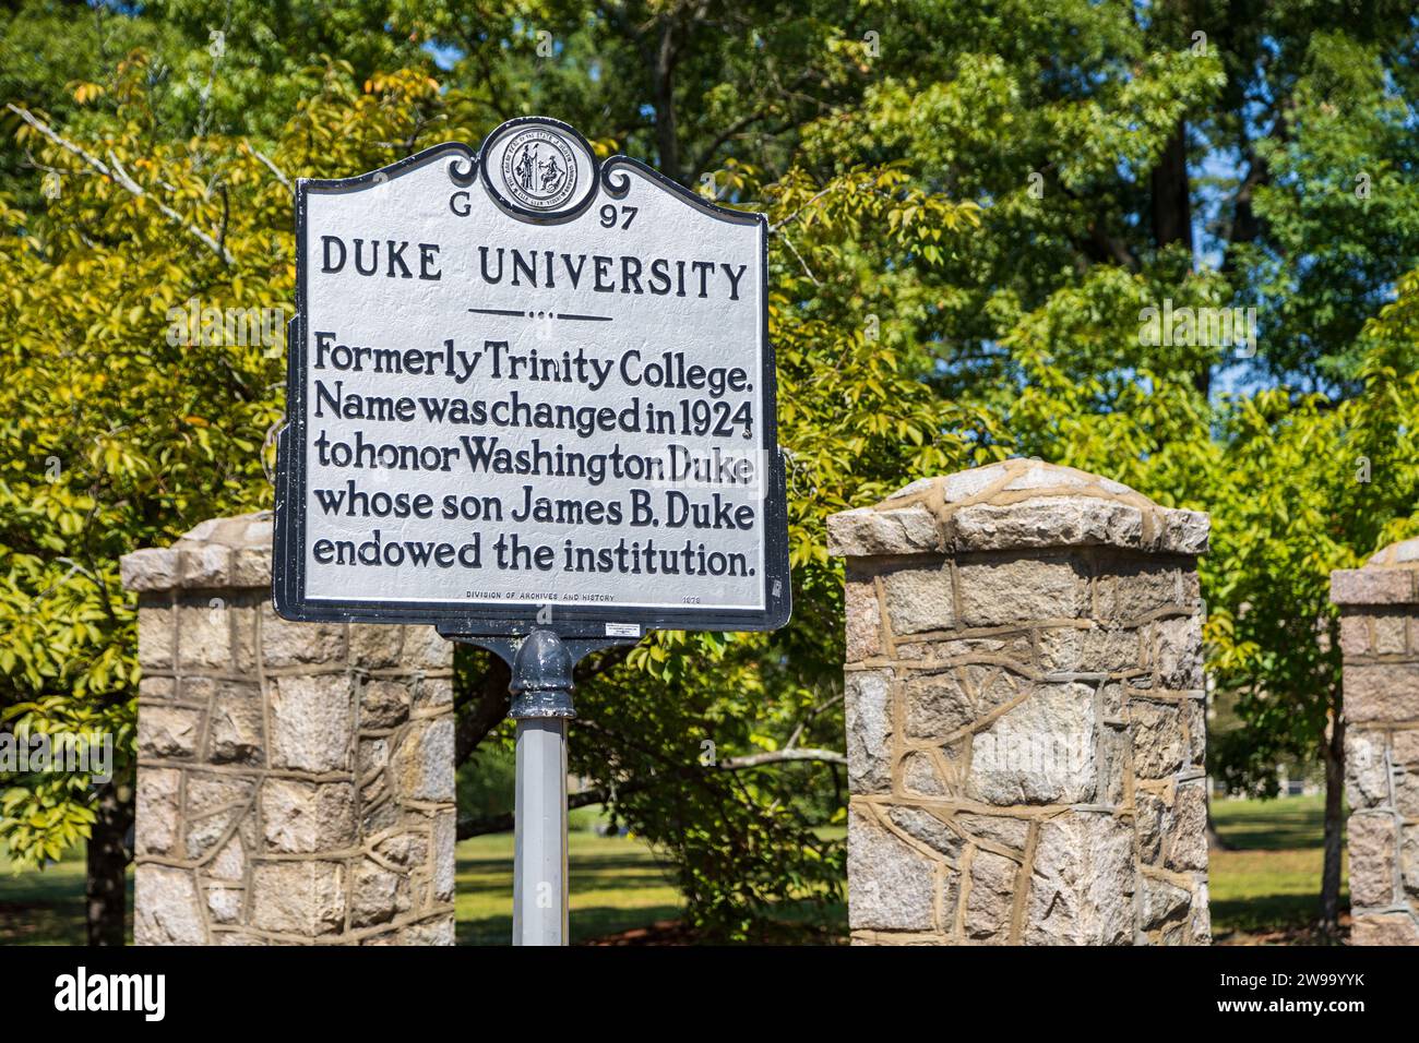
<instances>
[{"instance_id":1,"label":"patch of green lawn between the middle and right stone pillars","mask_svg":"<svg viewBox=\"0 0 1419 1043\"><path fill-rule=\"evenodd\" d=\"M1315 921L1321 890L1323 796L1213 800L1227 844L1212 851L1212 934L1219 942L1279 941ZM1341 908L1349 905L1341 857Z\"/></svg>"}]
</instances>

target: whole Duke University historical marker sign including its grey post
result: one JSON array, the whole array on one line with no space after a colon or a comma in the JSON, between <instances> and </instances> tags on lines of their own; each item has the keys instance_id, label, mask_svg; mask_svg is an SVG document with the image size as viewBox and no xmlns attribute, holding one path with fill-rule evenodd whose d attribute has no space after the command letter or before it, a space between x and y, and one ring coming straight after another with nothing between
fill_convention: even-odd
<instances>
[{"instance_id":1,"label":"whole Duke University historical marker sign including its grey post","mask_svg":"<svg viewBox=\"0 0 1419 1043\"><path fill-rule=\"evenodd\" d=\"M512 668L514 941L566 941L587 653L790 610L768 228L553 119L297 186L274 602Z\"/></svg>"}]
</instances>

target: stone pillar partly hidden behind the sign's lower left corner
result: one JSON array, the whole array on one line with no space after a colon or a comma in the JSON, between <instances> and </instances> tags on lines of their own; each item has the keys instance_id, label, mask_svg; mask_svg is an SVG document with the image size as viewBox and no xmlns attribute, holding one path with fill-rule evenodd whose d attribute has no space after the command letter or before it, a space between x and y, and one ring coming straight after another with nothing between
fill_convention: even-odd
<instances>
[{"instance_id":1,"label":"stone pillar partly hidden behind the sign's lower left corner","mask_svg":"<svg viewBox=\"0 0 1419 1043\"><path fill-rule=\"evenodd\" d=\"M122 559L138 592L139 945L454 939L451 646L287 623L271 518Z\"/></svg>"}]
</instances>

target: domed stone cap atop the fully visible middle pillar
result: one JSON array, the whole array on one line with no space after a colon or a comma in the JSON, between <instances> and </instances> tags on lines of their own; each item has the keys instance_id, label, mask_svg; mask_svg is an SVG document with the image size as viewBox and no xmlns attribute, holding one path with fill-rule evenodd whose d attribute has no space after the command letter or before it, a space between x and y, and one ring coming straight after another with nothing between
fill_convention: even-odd
<instances>
[{"instance_id":1,"label":"domed stone cap atop the fully visible middle pillar","mask_svg":"<svg viewBox=\"0 0 1419 1043\"><path fill-rule=\"evenodd\" d=\"M827 519L836 556L1118 546L1199 555L1210 519L1159 507L1137 490L1073 467L1016 457L922 478L876 507Z\"/></svg>"}]
</instances>

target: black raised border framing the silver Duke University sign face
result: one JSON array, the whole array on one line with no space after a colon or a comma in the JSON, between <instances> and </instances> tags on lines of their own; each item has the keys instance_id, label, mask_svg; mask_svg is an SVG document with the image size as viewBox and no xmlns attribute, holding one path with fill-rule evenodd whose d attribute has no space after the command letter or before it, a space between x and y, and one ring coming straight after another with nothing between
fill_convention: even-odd
<instances>
[{"instance_id":1,"label":"black raised border framing the silver Duke University sign face","mask_svg":"<svg viewBox=\"0 0 1419 1043\"><path fill-rule=\"evenodd\" d=\"M407 156L356 177L308 179L301 177L295 187L295 247L297 247L297 298L295 318L287 328L287 421L277 434L277 481L275 481L275 536L272 546L271 596L275 612L291 622L309 623L403 623L436 626L446 636L468 637L518 637L532 630L553 630L566 637L639 637L647 630L776 630L788 623L792 613L792 576L789 570L788 546L788 491L783 456L778 447L778 375L773 343L769 339L769 251L768 219L761 213L729 210L701 199L677 182L670 180L654 167L630 156L612 156L596 163L595 186L575 211L558 214L518 213L518 207L499 199L488 186L487 177L480 177L481 158L490 142L505 133L511 125L543 123L570 132L582 143L586 142L575 129L561 121L542 118L521 118L508 121L494 129L474 150L465 142L444 142ZM587 146L589 149L589 146ZM589 149L590 150L590 149ZM701 609L651 607L622 605L590 605L553 602L548 605L468 602L451 605L430 602L427 605L400 602L397 605L372 605L368 600L335 602L329 599L308 600L305 597L305 453L292 453L292 447L308 446L305 431L305 377L307 362L307 200L309 193L343 193L363 189L423 167L441 159L450 162L450 179L454 184L470 187L480 180L490 192L494 203L518 220L532 224L562 224L585 213L600 192L612 199L624 199L630 192L630 170L644 176L651 184L677 196L717 220L729 224L759 226L759 287L761 287L761 338L763 345L763 369L759 375L762 387L763 423L759 448L769 461L768 495L763 498L763 609ZM460 170L458 160L468 163ZM542 616L543 619L539 619ZM620 626L617 626L620 624ZM627 626L634 633L627 631Z\"/></svg>"}]
</instances>

